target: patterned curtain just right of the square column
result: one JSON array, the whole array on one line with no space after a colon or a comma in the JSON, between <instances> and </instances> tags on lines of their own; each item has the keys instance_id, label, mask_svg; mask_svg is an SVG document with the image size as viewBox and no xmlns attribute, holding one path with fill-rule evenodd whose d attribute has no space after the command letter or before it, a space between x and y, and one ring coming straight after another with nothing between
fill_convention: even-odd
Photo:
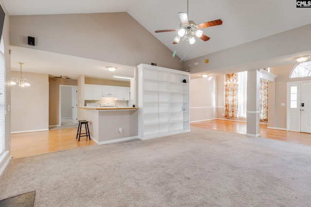
<instances>
[{"instance_id":1,"label":"patterned curtain just right of the square column","mask_svg":"<svg viewBox=\"0 0 311 207\"><path fill-rule=\"evenodd\" d=\"M260 80L259 88L259 119L268 122L268 81Z\"/></svg>"}]
</instances>

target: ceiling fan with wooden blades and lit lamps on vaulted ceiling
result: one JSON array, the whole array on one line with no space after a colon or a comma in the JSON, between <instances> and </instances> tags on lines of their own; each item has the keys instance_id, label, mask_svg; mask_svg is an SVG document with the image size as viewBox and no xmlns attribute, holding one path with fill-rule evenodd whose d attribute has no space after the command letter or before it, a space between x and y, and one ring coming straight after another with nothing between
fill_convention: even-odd
<instances>
[{"instance_id":1,"label":"ceiling fan with wooden blades and lit lamps on vaulted ceiling","mask_svg":"<svg viewBox=\"0 0 311 207\"><path fill-rule=\"evenodd\" d=\"M189 5L189 0L187 0L187 13L188 12L188 6ZM223 24L223 21L221 19L213 20L213 21L208 21L204 22L201 24L195 24L194 21L188 20L188 16L184 12L178 13L179 18L180 18L180 25L179 29L176 30L157 30L157 32L173 32L173 31L178 31L178 35L174 38L173 44L179 43L180 40L186 40L186 42L189 42L190 44L195 43L194 36L200 38L203 41L207 41L210 38L206 35L203 34L202 28L206 27L212 27L212 26L217 26Z\"/></svg>"}]
</instances>

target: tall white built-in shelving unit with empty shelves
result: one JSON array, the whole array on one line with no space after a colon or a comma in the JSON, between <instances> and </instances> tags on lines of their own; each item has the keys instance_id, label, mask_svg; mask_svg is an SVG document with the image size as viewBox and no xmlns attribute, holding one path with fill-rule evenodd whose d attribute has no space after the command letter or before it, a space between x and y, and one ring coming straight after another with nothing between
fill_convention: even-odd
<instances>
[{"instance_id":1,"label":"tall white built-in shelving unit with empty shelves","mask_svg":"<svg viewBox=\"0 0 311 207\"><path fill-rule=\"evenodd\" d=\"M189 72L148 64L137 68L138 138L190 131Z\"/></svg>"}]
</instances>

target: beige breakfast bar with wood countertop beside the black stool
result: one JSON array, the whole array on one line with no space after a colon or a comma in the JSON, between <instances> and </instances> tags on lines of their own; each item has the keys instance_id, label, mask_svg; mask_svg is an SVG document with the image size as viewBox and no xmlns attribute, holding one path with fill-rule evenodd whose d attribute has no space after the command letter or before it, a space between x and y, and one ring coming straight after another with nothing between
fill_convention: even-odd
<instances>
[{"instance_id":1,"label":"beige breakfast bar with wood countertop beside the black stool","mask_svg":"<svg viewBox=\"0 0 311 207\"><path fill-rule=\"evenodd\" d=\"M138 138L137 107L78 107L88 121L91 138L97 144Z\"/></svg>"}]
</instances>

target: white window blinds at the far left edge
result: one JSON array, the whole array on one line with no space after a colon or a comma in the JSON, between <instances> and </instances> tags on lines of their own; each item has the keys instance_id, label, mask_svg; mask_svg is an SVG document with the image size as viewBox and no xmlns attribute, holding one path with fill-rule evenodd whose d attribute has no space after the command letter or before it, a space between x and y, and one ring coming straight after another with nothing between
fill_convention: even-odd
<instances>
[{"instance_id":1,"label":"white window blinds at the far left edge","mask_svg":"<svg viewBox=\"0 0 311 207\"><path fill-rule=\"evenodd\" d=\"M0 154L5 150L5 66L0 52Z\"/></svg>"}]
</instances>

